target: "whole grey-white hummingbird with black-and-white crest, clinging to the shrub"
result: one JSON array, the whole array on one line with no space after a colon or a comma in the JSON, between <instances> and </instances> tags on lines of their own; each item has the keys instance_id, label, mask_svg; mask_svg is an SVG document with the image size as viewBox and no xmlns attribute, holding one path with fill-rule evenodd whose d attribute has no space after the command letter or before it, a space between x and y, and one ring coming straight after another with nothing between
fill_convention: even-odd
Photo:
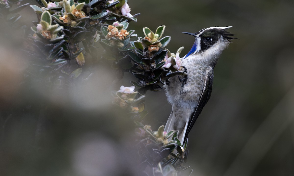
<instances>
[{"instance_id":1,"label":"whole grey-white hummingbird with black-and-white crest, clinging to the shrub","mask_svg":"<svg viewBox=\"0 0 294 176\"><path fill-rule=\"evenodd\" d=\"M181 59L182 69L187 76L171 77L164 89L172 104L164 131L178 131L178 139L183 144L195 121L211 96L213 68L221 53L234 38L227 32L228 27L210 27L193 35L195 42L191 50Z\"/></svg>"}]
</instances>

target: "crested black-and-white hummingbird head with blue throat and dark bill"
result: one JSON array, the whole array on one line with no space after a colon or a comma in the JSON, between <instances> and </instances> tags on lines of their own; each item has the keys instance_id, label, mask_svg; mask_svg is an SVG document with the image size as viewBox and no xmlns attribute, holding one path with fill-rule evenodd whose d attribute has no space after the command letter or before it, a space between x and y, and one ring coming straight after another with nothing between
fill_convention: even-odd
<instances>
[{"instance_id":1,"label":"crested black-and-white hummingbird head with blue throat and dark bill","mask_svg":"<svg viewBox=\"0 0 294 176\"><path fill-rule=\"evenodd\" d=\"M235 36L234 34L226 31L230 27L232 26L210 27L196 33L183 32L195 37L194 45L185 58L198 53L219 55L229 45L232 39L237 39L233 37Z\"/></svg>"}]
</instances>

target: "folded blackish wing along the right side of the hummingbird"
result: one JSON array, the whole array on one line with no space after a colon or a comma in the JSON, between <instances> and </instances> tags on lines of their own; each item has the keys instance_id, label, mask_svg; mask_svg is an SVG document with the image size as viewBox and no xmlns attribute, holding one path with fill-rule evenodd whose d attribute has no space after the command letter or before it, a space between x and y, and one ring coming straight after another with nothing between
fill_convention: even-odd
<instances>
[{"instance_id":1,"label":"folded blackish wing along the right side of the hummingbird","mask_svg":"<svg viewBox=\"0 0 294 176\"><path fill-rule=\"evenodd\" d=\"M188 128L187 128L187 131L185 134L184 141L186 141L188 133L191 131L192 126L194 125L194 123L197 120L198 116L200 115L203 107L206 105L206 103L208 102L208 100L210 98L211 90L212 90L212 82L213 82L213 68L208 70L206 73L203 91L200 96L198 105L195 107L194 112L192 113L190 120L188 122Z\"/></svg>"}]
</instances>

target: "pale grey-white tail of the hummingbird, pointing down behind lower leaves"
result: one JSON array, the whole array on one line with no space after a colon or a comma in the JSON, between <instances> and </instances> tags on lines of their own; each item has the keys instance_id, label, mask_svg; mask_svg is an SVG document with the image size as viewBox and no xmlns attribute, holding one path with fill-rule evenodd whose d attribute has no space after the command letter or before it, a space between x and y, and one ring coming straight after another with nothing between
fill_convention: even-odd
<instances>
[{"instance_id":1,"label":"pale grey-white tail of the hummingbird, pointing down behind lower leaves","mask_svg":"<svg viewBox=\"0 0 294 176\"><path fill-rule=\"evenodd\" d=\"M171 115L168 117L166 126L164 127L164 131L178 131L178 140L181 142L181 144L183 144L186 140L185 135L188 128L188 122L192 113L193 110L191 109L185 109L182 107L179 108L173 105Z\"/></svg>"}]
</instances>

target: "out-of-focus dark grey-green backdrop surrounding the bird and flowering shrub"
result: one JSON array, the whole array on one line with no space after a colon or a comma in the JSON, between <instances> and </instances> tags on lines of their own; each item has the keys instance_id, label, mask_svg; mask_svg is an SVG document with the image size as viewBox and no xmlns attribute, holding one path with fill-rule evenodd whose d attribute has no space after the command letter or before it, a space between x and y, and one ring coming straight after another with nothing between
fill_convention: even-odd
<instances>
[{"instance_id":1,"label":"out-of-focus dark grey-green backdrop surrounding the bird and flowering shrub","mask_svg":"<svg viewBox=\"0 0 294 176\"><path fill-rule=\"evenodd\" d=\"M34 1L25 1L35 4ZM210 101L189 134L186 166L197 176L294 175L294 1L129 0L131 22L155 31L166 25L168 50L184 46L211 26L233 26L233 40L214 69ZM44 91L26 80L30 58L21 38L31 33L34 11L27 7L17 27L1 24L0 175L136 175L131 124L111 105L113 70L94 65L86 88ZM87 62L87 61L86 61ZM118 82L131 86L132 75ZM42 101L41 101L42 100ZM50 109L39 110L41 102ZM153 130L171 112L165 92L147 92L145 124ZM12 113L11 113L12 112Z\"/></svg>"}]
</instances>

